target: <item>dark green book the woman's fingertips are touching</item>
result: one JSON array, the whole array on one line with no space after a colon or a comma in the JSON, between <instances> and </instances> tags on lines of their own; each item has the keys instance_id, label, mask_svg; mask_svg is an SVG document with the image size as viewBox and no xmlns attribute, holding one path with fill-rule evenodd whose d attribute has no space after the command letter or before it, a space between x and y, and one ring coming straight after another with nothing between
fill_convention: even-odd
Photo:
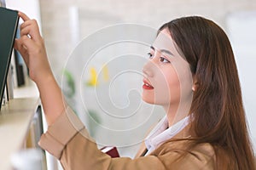
<instances>
[{"instance_id":1,"label":"dark green book the woman's fingertips are touching","mask_svg":"<svg viewBox=\"0 0 256 170\"><path fill-rule=\"evenodd\" d=\"M0 110L18 22L18 11L0 7Z\"/></svg>"}]
</instances>

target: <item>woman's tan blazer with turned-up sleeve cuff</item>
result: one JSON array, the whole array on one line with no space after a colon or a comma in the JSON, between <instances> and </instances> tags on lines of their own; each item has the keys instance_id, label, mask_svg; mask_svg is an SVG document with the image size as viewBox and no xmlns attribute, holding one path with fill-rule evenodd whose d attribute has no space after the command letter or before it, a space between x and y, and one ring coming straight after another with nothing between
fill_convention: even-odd
<instances>
[{"instance_id":1,"label":"woman's tan blazer with turned-up sleeve cuff","mask_svg":"<svg viewBox=\"0 0 256 170\"><path fill-rule=\"evenodd\" d=\"M187 132L187 128L184 128L176 137L187 136ZM175 161L177 156L183 153L186 144L184 141L165 144L159 153L153 151L148 156L142 156L146 151L145 146L142 145L134 159L111 158L97 149L84 124L69 107L42 135L38 144L58 158L65 170L212 170L214 163L214 151L210 144L198 145L182 159Z\"/></svg>"}]
</instances>

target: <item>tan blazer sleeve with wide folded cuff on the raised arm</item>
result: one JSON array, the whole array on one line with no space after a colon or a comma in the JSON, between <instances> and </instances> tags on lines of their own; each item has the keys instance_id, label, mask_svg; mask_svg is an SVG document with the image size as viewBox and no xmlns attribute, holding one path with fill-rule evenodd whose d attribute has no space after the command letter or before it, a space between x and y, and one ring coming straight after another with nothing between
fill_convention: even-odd
<instances>
[{"instance_id":1,"label":"tan blazer sleeve with wide folded cuff on the raised arm","mask_svg":"<svg viewBox=\"0 0 256 170\"><path fill-rule=\"evenodd\" d=\"M132 160L128 157L111 158L98 150L72 109L67 106L61 116L48 127L38 144L61 161L64 169L165 169L157 156Z\"/></svg>"}]
</instances>

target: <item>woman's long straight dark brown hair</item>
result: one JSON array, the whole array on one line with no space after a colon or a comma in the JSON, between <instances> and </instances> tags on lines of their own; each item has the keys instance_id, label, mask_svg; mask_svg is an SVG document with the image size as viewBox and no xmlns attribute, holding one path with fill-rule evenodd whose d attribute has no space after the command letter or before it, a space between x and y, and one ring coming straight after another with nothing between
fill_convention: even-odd
<instances>
[{"instance_id":1,"label":"woman's long straight dark brown hair","mask_svg":"<svg viewBox=\"0 0 256 170\"><path fill-rule=\"evenodd\" d=\"M199 16L172 20L160 31L165 28L189 62L197 82L190 109L195 139L190 146L212 144L216 169L255 169L229 38L212 20Z\"/></svg>"}]
</instances>

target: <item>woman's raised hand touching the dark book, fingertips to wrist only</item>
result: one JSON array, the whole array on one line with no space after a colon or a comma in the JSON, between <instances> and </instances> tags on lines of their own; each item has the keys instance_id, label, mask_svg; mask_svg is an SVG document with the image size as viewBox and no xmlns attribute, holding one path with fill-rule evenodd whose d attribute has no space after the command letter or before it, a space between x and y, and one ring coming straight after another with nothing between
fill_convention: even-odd
<instances>
[{"instance_id":1,"label":"woman's raised hand touching the dark book, fingertips to wrist only","mask_svg":"<svg viewBox=\"0 0 256 170\"><path fill-rule=\"evenodd\" d=\"M21 12L19 16L24 23L20 25L20 38L15 40L15 49L25 60L30 77L38 84L52 77L44 39L40 35L36 20L30 20L26 14Z\"/></svg>"}]
</instances>

